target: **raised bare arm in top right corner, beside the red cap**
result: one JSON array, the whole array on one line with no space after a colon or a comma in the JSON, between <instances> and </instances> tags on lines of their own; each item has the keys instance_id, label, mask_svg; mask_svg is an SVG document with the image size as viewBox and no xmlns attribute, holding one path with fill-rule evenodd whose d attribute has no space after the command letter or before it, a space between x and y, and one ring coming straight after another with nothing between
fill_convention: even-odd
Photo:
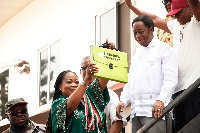
<instances>
[{"instance_id":1,"label":"raised bare arm in top right corner, beside the red cap","mask_svg":"<svg viewBox=\"0 0 200 133\"><path fill-rule=\"evenodd\" d=\"M199 0L188 0L190 8L198 21L200 21L200 1Z\"/></svg>"}]
</instances>

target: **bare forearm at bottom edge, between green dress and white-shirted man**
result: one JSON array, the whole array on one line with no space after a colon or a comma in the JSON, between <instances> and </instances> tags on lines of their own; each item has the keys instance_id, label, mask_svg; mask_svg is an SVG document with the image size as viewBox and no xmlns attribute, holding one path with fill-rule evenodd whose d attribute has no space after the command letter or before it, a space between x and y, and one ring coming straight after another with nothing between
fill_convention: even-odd
<instances>
[{"instance_id":1,"label":"bare forearm at bottom edge, between green dress and white-shirted man","mask_svg":"<svg viewBox=\"0 0 200 133\"><path fill-rule=\"evenodd\" d=\"M120 131L122 130L122 127L123 127L122 120L117 120L112 124L109 130L109 133L120 133Z\"/></svg>"}]
</instances>

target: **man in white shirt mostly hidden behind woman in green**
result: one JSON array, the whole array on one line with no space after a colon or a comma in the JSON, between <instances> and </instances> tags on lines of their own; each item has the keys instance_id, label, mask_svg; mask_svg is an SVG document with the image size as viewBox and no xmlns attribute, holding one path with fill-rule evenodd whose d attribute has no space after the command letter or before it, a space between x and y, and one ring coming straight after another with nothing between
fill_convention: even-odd
<instances>
[{"instance_id":1,"label":"man in white shirt mostly hidden behind woman in green","mask_svg":"<svg viewBox=\"0 0 200 133\"><path fill-rule=\"evenodd\" d=\"M80 69L80 74L82 78L85 78L85 70L87 68L87 65L90 63L90 56L86 56L82 59L81 61L81 69ZM106 108L104 112L106 113L106 124L107 124L107 130L109 133L120 133L122 128L126 126L127 121L126 118L124 117L123 119L119 119L116 116L116 107L117 104L119 103L119 98L118 95L111 89L108 89L109 95L110 95L110 101L106 105ZM123 116L124 112L122 112Z\"/></svg>"}]
</instances>

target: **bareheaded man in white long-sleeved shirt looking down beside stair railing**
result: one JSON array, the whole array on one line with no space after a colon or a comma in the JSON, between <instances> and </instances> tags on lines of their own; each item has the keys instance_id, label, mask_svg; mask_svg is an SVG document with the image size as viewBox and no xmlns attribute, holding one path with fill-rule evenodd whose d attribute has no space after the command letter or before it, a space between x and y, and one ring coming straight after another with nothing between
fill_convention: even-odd
<instances>
[{"instance_id":1,"label":"bareheaded man in white long-sleeved shirt looking down beside stair railing","mask_svg":"<svg viewBox=\"0 0 200 133\"><path fill-rule=\"evenodd\" d=\"M128 83L124 86L117 115L131 102L132 133L137 132L152 117L162 115L178 83L178 63L173 49L153 37L153 20L139 16L132 22L135 40L143 46L131 60ZM160 120L149 133L167 132L165 120Z\"/></svg>"}]
</instances>

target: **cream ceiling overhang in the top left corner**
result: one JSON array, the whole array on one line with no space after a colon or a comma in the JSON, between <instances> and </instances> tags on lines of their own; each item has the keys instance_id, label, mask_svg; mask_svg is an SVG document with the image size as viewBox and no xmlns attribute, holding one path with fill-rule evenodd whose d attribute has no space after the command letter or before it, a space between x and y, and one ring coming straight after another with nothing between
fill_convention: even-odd
<instances>
[{"instance_id":1,"label":"cream ceiling overhang in the top left corner","mask_svg":"<svg viewBox=\"0 0 200 133\"><path fill-rule=\"evenodd\" d=\"M0 0L0 27L33 0Z\"/></svg>"}]
</instances>

